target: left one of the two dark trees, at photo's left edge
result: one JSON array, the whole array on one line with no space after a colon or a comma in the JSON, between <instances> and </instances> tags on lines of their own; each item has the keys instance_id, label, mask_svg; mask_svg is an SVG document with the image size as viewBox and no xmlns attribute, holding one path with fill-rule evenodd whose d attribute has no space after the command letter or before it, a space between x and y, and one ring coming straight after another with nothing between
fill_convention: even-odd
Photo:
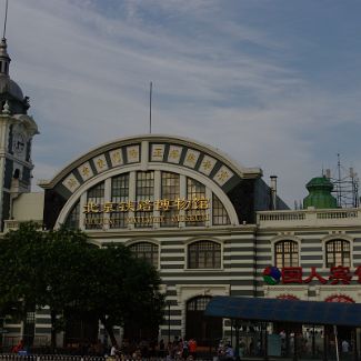
<instances>
[{"instance_id":1,"label":"left one of the two dark trees, at photo's left edge","mask_svg":"<svg viewBox=\"0 0 361 361\"><path fill-rule=\"evenodd\" d=\"M54 347L61 315L86 274L87 240L84 233L67 229L43 232L33 222L7 233L0 242L0 312L24 319L28 311L49 307Z\"/></svg>"}]
</instances>

